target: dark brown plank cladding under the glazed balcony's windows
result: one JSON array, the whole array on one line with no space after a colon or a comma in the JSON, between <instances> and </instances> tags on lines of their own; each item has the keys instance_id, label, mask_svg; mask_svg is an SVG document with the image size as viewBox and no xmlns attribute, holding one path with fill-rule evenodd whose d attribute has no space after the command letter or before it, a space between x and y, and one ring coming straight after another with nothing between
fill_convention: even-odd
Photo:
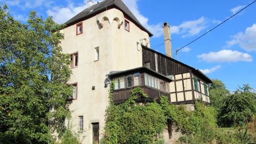
<instances>
[{"instance_id":1,"label":"dark brown plank cladding under the glazed balcony's windows","mask_svg":"<svg viewBox=\"0 0 256 144\"><path fill-rule=\"evenodd\" d=\"M113 92L113 101L115 103L122 103L122 102L126 101L127 99L129 99L133 88L134 87L131 87L129 89L115 90ZM168 92L159 91L159 90L156 90L156 89L148 87L148 86L141 86L141 89L143 90L144 93L148 94L149 99L159 100L159 96L161 96L161 95L165 95L166 97L168 97L170 99L170 93L168 93Z\"/></svg>"}]
</instances>

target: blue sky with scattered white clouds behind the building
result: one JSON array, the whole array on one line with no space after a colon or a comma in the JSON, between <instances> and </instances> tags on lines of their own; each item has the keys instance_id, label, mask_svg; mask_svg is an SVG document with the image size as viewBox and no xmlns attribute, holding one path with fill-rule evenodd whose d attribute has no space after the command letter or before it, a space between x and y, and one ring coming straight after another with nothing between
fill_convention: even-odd
<instances>
[{"instance_id":1,"label":"blue sky with scattered white clouds behind the building","mask_svg":"<svg viewBox=\"0 0 256 144\"><path fill-rule=\"evenodd\" d=\"M0 0L9 6L17 20L26 22L29 11L43 18L53 16L58 23L66 22L86 9L86 0L24 1ZM96 1L97 2L97 1ZM151 48L165 53L162 24L169 22L173 51L193 41L230 17L252 0L215 1L153 1L123 0L151 33ZM249 83L256 89L256 2L217 29L179 51L179 60L201 69L210 78L224 82L230 91ZM174 55L176 59L176 55Z\"/></svg>"}]
</instances>

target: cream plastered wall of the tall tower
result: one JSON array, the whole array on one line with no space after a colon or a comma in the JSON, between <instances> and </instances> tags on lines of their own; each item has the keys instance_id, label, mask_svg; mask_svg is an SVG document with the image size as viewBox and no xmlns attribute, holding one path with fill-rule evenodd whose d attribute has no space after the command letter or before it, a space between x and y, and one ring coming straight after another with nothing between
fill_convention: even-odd
<instances>
[{"instance_id":1,"label":"cream plastered wall of the tall tower","mask_svg":"<svg viewBox=\"0 0 256 144\"><path fill-rule=\"evenodd\" d=\"M103 24L102 28L97 20ZM99 122L102 138L109 93L109 85L104 87L106 75L110 71L142 66L141 47L137 50L137 42L143 38L149 41L149 35L131 21L130 32L124 29L124 24L118 29L122 21L123 13L110 9L82 21L83 34L76 35L76 24L61 30L65 35L61 43L63 53L78 52L78 67L71 69L73 75L69 81L77 83L77 100L73 100L69 109L74 132L78 132L78 116L84 117L84 131L79 133L82 143L92 143L91 123L94 122ZM94 61L95 47L99 47L98 61Z\"/></svg>"}]
</instances>

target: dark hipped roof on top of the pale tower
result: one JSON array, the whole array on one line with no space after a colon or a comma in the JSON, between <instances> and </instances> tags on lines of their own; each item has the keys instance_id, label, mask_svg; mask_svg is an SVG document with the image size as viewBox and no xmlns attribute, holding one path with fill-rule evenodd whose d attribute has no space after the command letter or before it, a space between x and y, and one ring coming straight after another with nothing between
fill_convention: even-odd
<instances>
[{"instance_id":1,"label":"dark hipped roof on top of the pale tower","mask_svg":"<svg viewBox=\"0 0 256 144\"><path fill-rule=\"evenodd\" d=\"M128 7L122 2L122 0L105 0L98 4L94 4L91 7L88 7L87 9L78 13L77 15L75 15L75 17L71 18L67 22L65 22L65 25L69 26L70 24L75 23L79 20L86 19L86 17L90 17L91 15L99 11L107 10L110 6L117 7L125 15L127 15L127 17L134 21L135 24L139 25L143 30L145 30L149 34L149 36L153 36L153 34L151 34L150 31L148 31L145 27L141 25L139 20L132 14Z\"/></svg>"}]
</instances>

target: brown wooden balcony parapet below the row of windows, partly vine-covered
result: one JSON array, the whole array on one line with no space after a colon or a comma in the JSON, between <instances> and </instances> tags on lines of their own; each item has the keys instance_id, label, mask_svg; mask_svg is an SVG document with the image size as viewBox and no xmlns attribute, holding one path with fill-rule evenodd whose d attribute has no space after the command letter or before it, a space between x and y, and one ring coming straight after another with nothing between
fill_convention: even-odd
<instances>
[{"instance_id":1,"label":"brown wooden balcony parapet below the row of windows, partly vine-covered","mask_svg":"<svg viewBox=\"0 0 256 144\"><path fill-rule=\"evenodd\" d=\"M157 89L154 89L154 88L149 87L149 86L138 86L138 87L141 87L143 92L148 95L148 98L141 98L140 95L139 95L139 98L136 100L137 102L153 102L154 99L159 101L160 100L159 98L162 95L166 96L170 100L170 93L169 92L157 90ZM113 92L113 101L114 101L114 103L118 104L118 103L125 102L127 99L129 99L130 94L131 94L133 89L134 89L134 87L130 87L130 88L127 88L127 89L115 90Z\"/></svg>"}]
</instances>

